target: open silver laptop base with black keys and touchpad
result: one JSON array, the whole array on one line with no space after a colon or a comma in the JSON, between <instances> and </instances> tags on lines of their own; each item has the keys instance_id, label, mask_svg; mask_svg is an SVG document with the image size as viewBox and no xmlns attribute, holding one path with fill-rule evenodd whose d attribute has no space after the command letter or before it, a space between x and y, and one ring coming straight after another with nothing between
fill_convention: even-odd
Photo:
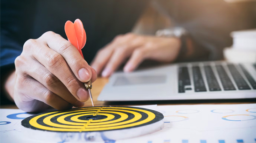
<instances>
[{"instance_id":1,"label":"open silver laptop base with black keys and touchpad","mask_svg":"<svg viewBox=\"0 0 256 143\"><path fill-rule=\"evenodd\" d=\"M100 101L256 98L256 64L225 61L169 64L116 72Z\"/></svg>"}]
</instances>

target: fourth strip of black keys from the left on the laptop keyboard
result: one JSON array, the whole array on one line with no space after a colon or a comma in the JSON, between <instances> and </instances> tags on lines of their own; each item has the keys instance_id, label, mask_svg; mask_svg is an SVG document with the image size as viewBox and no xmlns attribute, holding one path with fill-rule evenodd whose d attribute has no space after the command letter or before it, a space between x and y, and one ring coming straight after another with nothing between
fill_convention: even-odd
<instances>
[{"instance_id":1,"label":"fourth strip of black keys from the left on the laptop keyboard","mask_svg":"<svg viewBox=\"0 0 256 143\"><path fill-rule=\"evenodd\" d=\"M236 90L222 65L215 65L224 90Z\"/></svg>"}]
</instances>

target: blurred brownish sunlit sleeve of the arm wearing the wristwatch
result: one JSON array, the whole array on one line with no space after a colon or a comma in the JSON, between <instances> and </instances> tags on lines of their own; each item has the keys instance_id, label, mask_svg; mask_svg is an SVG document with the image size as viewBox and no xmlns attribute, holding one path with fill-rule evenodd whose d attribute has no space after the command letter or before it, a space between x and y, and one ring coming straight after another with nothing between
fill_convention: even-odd
<instances>
[{"instance_id":1,"label":"blurred brownish sunlit sleeve of the arm wearing the wristwatch","mask_svg":"<svg viewBox=\"0 0 256 143\"><path fill-rule=\"evenodd\" d=\"M155 0L157 8L177 26L188 31L200 49L209 51L207 59L223 59L223 49L232 45L230 33L253 28L253 20L237 5L224 0Z\"/></svg>"}]
</instances>

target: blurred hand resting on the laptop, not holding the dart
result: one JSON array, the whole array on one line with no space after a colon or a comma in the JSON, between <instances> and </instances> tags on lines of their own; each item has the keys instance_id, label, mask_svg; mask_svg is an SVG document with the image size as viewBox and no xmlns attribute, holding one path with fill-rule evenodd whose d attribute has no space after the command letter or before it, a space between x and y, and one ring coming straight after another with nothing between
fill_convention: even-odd
<instances>
[{"instance_id":1,"label":"blurred hand resting on the laptop, not holding the dart","mask_svg":"<svg viewBox=\"0 0 256 143\"><path fill-rule=\"evenodd\" d=\"M124 71L131 72L145 59L171 62L178 56L180 39L143 36L136 34L118 35L110 44L100 49L91 66L97 74L109 77L127 58Z\"/></svg>"}]
</instances>

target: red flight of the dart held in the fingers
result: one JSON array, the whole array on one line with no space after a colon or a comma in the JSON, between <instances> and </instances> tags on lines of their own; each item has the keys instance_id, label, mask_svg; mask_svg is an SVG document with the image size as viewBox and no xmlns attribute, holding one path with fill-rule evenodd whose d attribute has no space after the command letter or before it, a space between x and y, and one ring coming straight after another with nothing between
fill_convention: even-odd
<instances>
[{"instance_id":1,"label":"red flight of the dart held in the fingers","mask_svg":"<svg viewBox=\"0 0 256 143\"><path fill-rule=\"evenodd\" d=\"M77 19L73 23L68 20L65 23L65 33L70 43L72 43L78 49L79 53L84 58L81 49L84 48L86 43L86 33L82 21Z\"/></svg>"}]
</instances>

